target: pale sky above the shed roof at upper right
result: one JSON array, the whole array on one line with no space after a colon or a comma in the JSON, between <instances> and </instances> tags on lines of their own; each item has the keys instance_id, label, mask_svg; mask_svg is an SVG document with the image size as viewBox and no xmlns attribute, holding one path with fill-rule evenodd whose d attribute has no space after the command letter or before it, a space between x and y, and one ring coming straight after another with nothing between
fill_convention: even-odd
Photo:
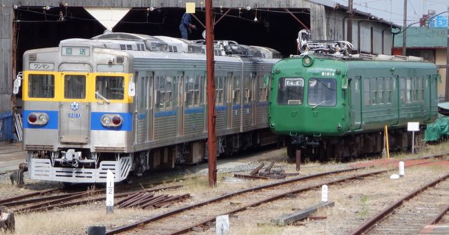
<instances>
[{"instance_id":1,"label":"pale sky above the shed roof at upper right","mask_svg":"<svg viewBox=\"0 0 449 235\"><path fill-rule=\"evenodd\" d=\"M347 6L347 0L334 0ZM371 13L386 21L392 21L399 26L403 25L404 0L353 0L353 8ZM419 21L422 15L427 15L428 10L435 10L436 14L448 11L448 0L407 0L408 24ZM448 13L443 13L448 17ZM417 23L414 26L419 26Z\"/></svg>"}]
</instances>

